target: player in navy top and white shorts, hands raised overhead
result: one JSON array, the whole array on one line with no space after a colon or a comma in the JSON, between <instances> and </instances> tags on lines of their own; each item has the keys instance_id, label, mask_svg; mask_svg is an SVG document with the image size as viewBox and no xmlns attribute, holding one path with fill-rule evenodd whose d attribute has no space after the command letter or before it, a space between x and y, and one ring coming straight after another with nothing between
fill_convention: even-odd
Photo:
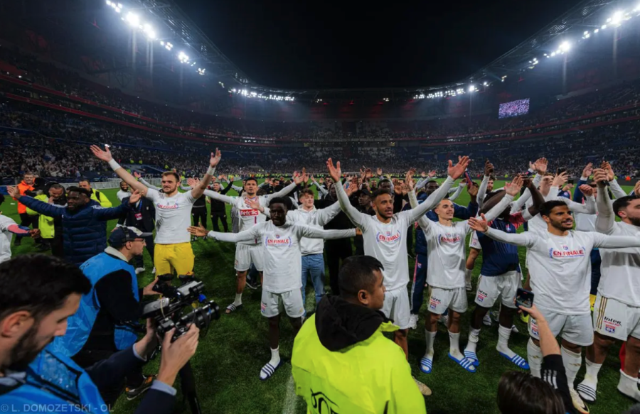
<instances>
[{"instance_id":1,"label":"player in navy top and white shorts, hands raised overhead","mask_svg":"<svg viewBox=\"0 0 640 414\"><path fill-rule=\"evenodd\" d=\"M514 234L518 227L538 214L538 206L543 204L544 198L531 180L527 180L527 188L533 196L533 206L523 212L510 213L511 207L509 205L513 198L520 193L522 184L523 179L518 176L511 183L507 183L504 190L490 193L486 197L481 212L486 214L486 219L492 228ZM494 217L495 219L493 219ZM513 316L517 311L514 300L522 279L518 248L511 244L489 239L484 234L480 234L478 239L483 251L482 268L476 291L476 309L471 317L469 342L464 349L464 356L473 361L474 365L479 365L476 347L480 339L482 320L496 303L496 300L500 299L501 309L496 350L519 368L528 369L529 365L526 359L513 352L508 346L513 327Z\"/></svg>"}]
</instances>

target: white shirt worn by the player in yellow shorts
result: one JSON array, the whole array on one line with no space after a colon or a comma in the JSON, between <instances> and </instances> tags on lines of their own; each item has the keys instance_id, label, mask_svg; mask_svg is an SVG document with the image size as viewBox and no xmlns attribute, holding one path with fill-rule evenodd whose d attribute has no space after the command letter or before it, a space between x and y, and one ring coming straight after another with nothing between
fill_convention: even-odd
<instances>
[{"instance_id":1,"label":"white shirt worn by the player in yellow shorts","mask_svg":"<svg viewBox=\"0 0 640 414\"><path fill-rule=\"evenodd\" d=\"M156 244L178 244L191 241L191 207L196 199L191 191L167 197L164 192L146 189L146 198L156 207Z\"/></svg>"}]
</instances>

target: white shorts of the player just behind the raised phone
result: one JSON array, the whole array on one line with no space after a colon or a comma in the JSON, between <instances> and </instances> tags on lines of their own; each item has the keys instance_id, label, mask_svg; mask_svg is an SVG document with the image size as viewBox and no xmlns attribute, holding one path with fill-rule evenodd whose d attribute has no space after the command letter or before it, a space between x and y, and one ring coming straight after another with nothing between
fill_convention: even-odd
<instances>
[{"instance_id":1,"label":"white shorts of the player just behind the raised phone","mask_svg":"<svg viewBox=\"0 0 640 414\"><path fill-rule=\"evenodd\" d=\"M538 309L547 320L554 337L557 337L562 332L562 339L566 339L572 344L580 345L580 347L588 347L593 344L593 325L591 323L591 315L588 313L561 315L541 307L538 307ZM540 339L538 324L533 317L529 318L529 334L533 339Z\"/></svg>"}]
</instances>

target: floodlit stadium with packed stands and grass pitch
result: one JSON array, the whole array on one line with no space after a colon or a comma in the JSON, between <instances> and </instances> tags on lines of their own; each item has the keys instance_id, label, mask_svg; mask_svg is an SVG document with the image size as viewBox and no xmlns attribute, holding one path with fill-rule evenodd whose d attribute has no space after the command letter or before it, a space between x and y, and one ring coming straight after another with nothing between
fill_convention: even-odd
<instances>
[{"instance_id":1,"label":"floodlit stadium with packed stands and grass pitch","mask_svg":"<svg viewBox=\"0 0 640 414\"><path fill-rule=\"evenodd\" d=\"M597 168L603 161L626 194L640 179L640 4L581 1L481 69L440 85L287 89L253 81L178 3L0 3L2 214L20 222L6 187L29 172L64 187L89 180L119 205L121 180L92 156L92 145L108 146L122 168L157 186L170 170L184 185L188 178L202 178L216 148L222 160L215 175L238 186L249 177L260 184L279 178L284 185L303 168L324 183L327 158L340 160L346 177L370 168L375 179L387 176L398 187L412 168L416 176L434 171L444 183L447 161L459 156L473 160L468 173L478 184L490 160L496 188L526 173L538 158L548 160L549 172L565 168L571 184L585 165ZM315 188L314 194L321 197ZM465 190L456 202L466 206L471 197ZM205 208L213 211L213 204ZM225 209L231 225L231 206ZM107 222L107 237L116 224L117 219ZM235 246L206 237L191 244L193 272L206 283L207 297L221 307L232 303ZM14 257L34 251L31 240L11 248ZM518 254L525 274L526 249ZM411 246L409 255L411 273ZM474 287L481 263L479 256ZM156 276L148 253L144 268L140 286ZM309 286L307 311L314 309L312 292ZM474 293L468 296L474 300ZM269 381L260 381L257 374L269 358L267 322L257 312L260 290L245 290L243 300L242 312L211 322L191 360L202 412L306 413L292 376L292 327L280 327L284 364ZM425 300L420 323L428 305ZM471 312L462 315L463 342L470 320ZM409 329L412 372L433 391L425 398L428 413L500 413L498 381L515 367L494 351L496 325L494 320L483 328L483 365L474 374L446 359L444 325L434 344L437 369L422 374L425 335L420 327ZM516 318L515 327L519 333L511 335L511 349L524 356L527 325ZM617 343L604 361L591 413L623 413L637 402L616 390L619 350ZM159 364L160 358L146 364L145 374L155 374ZM576 384L584 377L583 367ZM180 381L175 387L175 412L192 412ZM112 412L134 413L139 401L120 396Z\"/></svg>"}]
</instances>

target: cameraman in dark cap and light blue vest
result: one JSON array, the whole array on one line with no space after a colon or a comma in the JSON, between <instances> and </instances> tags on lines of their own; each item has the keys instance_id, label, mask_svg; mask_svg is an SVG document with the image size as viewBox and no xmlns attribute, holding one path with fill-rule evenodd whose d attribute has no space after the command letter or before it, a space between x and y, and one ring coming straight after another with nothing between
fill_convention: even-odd
<instances>
[{"instance_id":1,"label":"cameraman in dark cap and light blue vest","mask_svg":"<svg viewBox=\"0 0 640 414\"><path fill-rule=\"evenodd\" d=\"M155 282L138 290L129 261L142 255L144 240L150 235L135 227L117 227L109 237L110 247L82 263L80 270L89 278L92 289L82 296L78 312L68 320L67 334L55 339L53 349L85 368L136 342L137 334L122 322L138 320L142 315L140 296L156 293L152 290ZM127 398L146 391L153 379L140 370L127 374ZM105 403L115 403L122 388L124 383L100 389Z\"/></svg>"}]
</instances>

